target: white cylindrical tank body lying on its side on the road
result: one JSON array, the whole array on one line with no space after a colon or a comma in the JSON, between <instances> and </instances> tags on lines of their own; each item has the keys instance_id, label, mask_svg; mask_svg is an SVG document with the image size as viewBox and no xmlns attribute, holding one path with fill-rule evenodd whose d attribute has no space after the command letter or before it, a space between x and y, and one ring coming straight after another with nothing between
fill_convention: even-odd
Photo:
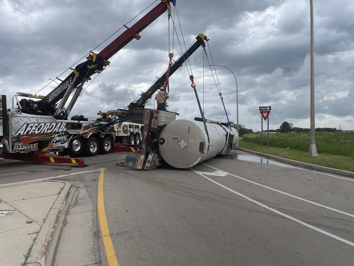
<instances>
[{"instance_id":1,"label":"white cylindrical tank body lying on its side on the road","mask_svg":"<svg viewBox=\"0 0 354 266\"><path fill-rule=\"evenodd\" d=\"M231 132L230 128L216 123L206 123L206 126L210 137L209 151L203 122L179 119L169 123L160 134L162 158L173 167L189 168L221 154L226 145L227 133ZM234 146L238 144L239 136L236 129L232 133Z\"/></svg>"}]
</instances>

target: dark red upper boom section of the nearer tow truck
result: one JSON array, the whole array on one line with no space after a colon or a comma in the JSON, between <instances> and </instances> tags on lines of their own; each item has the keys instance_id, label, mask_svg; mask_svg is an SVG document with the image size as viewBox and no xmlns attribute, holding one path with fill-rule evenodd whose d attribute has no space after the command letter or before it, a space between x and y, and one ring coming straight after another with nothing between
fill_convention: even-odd
<instances>
[{"instance_id":1,"label":"dark red upper boom section of the nearer tow truck","mask_svg":"<svg viewBox=\"0 0 354 266\"><path fill-rule=\"evenodd\" d=\"M167 10L167 5L170 5L170 1L168 0L158 4L153 10L143 16L131 28L120 34L114 41L112 41L112 43L110 43L106 48L99 52L98 56L108 60L116 52L122 49L127 43L134 39L137 33L141 32L154 20L156 20L156 18L161 16Z\"/></svg>"}]
</instances>

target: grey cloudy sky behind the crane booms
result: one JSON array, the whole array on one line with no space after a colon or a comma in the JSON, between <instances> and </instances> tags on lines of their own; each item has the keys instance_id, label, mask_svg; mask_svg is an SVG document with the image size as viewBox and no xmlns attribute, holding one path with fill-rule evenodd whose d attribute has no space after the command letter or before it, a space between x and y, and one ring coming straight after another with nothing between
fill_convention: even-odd
<instances>
[{"instance_id":1,"label":"grey cloudy sky behind the crane booms","mask_svg":"<svg viewBox=\"0 0 354 266\"><path fill-rule=\"evenodd\" d=\"M15 92L38 92L48 84L48 78L57 77L153 1L0 3L0 93L8 96L10 104ZM176 10L185 44L189 46L198 33L204 33L210 39L209 60L212 56L215 64L234 71L239 85L239 123L259 130L258 106L270 105L270 128L279 128L283 121L310 127L309 0L177 0ZM338 128L341 124L344 130L354 130L354 2L314 0L314 21L316 127ZM177 16L175 22L184 47ZM123 31L95 51L101 51ZM141 40L132 40L110 59L111 65L87 87L72 115L95 119L99 110L125 107L166 70L167 12L140 35ZM176 35L174 54L174 59L181 55ZM190 57L201 102L203 54L199 48ZM204 61L205 116L220 121L222 103L206 57ZM216 71L230 120L236 122L234 76L223 67L216 67ZM46 95L54 84L39 94ZM185 64L170 78L168 103L168 109L180 113L180 118L200 116ZM146 107L153 104L150 100Z\"/></svg>"}]
</instances>

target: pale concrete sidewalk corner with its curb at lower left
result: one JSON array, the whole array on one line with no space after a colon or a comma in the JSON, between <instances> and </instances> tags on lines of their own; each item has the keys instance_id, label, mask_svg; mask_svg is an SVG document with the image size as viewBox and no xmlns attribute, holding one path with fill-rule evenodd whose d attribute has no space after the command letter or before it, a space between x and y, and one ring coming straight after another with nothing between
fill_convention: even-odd
<instances>
[{"instance_id":1,"label":"pale concrete sidewalk corner with its curb at lower left","mask_svg":"<svg viewBox=\"0 0 354 266\"><path fill-rule=\"evenodd\" d=\"M41 181L0 188L0 265L43 265L71 184Z\"/></svg>"}]
</instances>

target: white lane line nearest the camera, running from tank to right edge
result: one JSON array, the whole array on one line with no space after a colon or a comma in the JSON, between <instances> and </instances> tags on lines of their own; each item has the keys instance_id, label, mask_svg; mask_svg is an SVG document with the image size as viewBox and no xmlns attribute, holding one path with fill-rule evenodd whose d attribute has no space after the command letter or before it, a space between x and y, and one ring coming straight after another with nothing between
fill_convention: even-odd
<instances>
[{"instance_id":1,"label":"white lane line nearest the camera, running from tank to right edge","mask_svg":"<svg viewBox=\"0 0 354 266\"><path fill-rule=\"evenodd\" d=\"M192 168L191 168L191 169L192 169ZM195 173L198 173L197 171L195 171L195 170L193 170L193 169L192 169L192 171L195 172ZM350 241L348 241L348 240L346 240L346 239L344 239L344 238L338 237L337 235L334 235L334 234L331 234L331 233L329 233L329 232L326 232L326 231L324 231L324 230L322 230L322 229L320 229L320 228L317 228L317 227L314 227L314 226L312 226L312 225L309 225L308 223L305 223L305 222L303 222L303 221L300 221L300 220L298 220L298 219L296 219L296 218L294 218L294 217L292 217L292 216L289 216L289 215L287 215L287 214L284 214L284 213L282 213L282 212L280 212L280 211L277 211L277 210L273 209L272 207L269 207L269 206L267 206L267 205L264 205L263 203L260 203L260 202L257 201L257 200L251 199L251 198L249 198L249 197L247 197L247 196L245 196L245 195L243 195L243 194L241 194L241 193L239 193L239 192L236 192L235 190L233 190L233 189L231 189L231 188L225 187L224 185L222 185L222 184L220 184L220 183L214 181L213 179L204 176L204 174L201 174L201 173L198 173L198 174L200 174L202 177L208 179L209 181L211 181L211 182L213 182L213 183L219 185L220 187L222 187L222 188L224 188L224 189L227 189L227 190L229 190L230 192L235 193L236 195L239 195L239 196L241 196L242 198L245 198L245 199L247 199L247 200L249 200L249 201L251 201L251 202L253 202L253 203L256 203L256 204L258 204L259 206L264 207L265 209L268 209L268 210L270 210L270 211L273 211L273 212L275 212L276 214L279 214L279 215L281 215L281 216L284 216L284 217L286 217L286 218L288 218L288 219L290 219L290 220L292 220L292 221L294 221L294 222L297 222L297 223L299 223L299 224L301 224L301 225L304 225L304 226L306 226L306 227L308 227L308 228L311 228L311 229L313 229L313 230L315 230L315 231L317 231L317 232L320 232L320 233L325 234L325 235L327 235L327 236L329 236L329 237L332 237L332 238L334 238L334 239L337 239L337 240L339 240L339 241L341 241L341 242L343 242L343 243L346 243L346 244L348 244L348 245L354 246L354 243L353 243L353 242L350 242Z\"/></svg>"}]
</instances>

